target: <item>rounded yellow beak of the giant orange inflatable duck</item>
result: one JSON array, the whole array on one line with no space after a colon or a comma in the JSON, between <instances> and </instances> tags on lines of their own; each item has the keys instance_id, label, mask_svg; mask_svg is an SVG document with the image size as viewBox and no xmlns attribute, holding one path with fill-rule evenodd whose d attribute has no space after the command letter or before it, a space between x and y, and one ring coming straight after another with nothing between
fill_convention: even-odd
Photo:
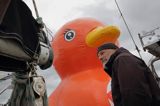
<instances>
[{"instance_id":1,"label":"rounded yellow beak of the giant orange inflatable duck","mask_svg":"<svg viewBox=\"0 0 160 106\"><path fill-rule=\"evenodd\" d=\"M86 44L89 47L98 47L104 43L115 43L120 35L116 26L97 27L86 36Z\"/></svg>"}]
</instances>

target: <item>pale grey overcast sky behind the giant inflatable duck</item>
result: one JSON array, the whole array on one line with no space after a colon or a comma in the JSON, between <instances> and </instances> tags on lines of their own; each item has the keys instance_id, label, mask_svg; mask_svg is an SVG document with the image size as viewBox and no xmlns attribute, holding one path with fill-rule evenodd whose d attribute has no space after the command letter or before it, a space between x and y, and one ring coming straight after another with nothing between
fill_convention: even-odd
<instances>
[{"instance_id":1,"label":"pale grey overcast sky behind the giant inflatable duck","mask_svg":"<svg viewBox=\"0 0 160 106\"><path fill-rule=\"evenodd\" d=\"M24 0L32 10L32 0ZM39 15L44 23L54 33L66 22L80 18L92 17L106 25L117 25L121 29L119 38L121 46L138 56L135 51L133 41L126 29L120 13L114 0L35 0ZM122 14L129 26L136 44L141 50L143 59L148 63L151 58L146 52L143 52L138 33L150 31L160 27L160 0L117 0ZM157 34L160 31L156 30ZM158 65L156 66L158 69ZM45 77L47 83L48 95L56 88L60 82L53 67L48 70L40 71Z\"/></svg>"}]
</instances>

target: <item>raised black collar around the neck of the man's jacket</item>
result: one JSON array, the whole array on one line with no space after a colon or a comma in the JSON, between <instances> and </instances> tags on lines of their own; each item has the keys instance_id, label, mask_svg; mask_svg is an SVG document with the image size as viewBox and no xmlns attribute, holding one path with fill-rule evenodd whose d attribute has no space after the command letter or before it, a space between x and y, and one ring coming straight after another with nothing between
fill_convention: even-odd
<instances>
[{"instance_id":1,"label":"raised black collar around the neck of the man's jacket","mask_svg":"<svg viewBox=\"0 0 160 106\"><path fill-rule=\"evenodd\" d=\"M109 58L108 62L105 64L105 67L104 67L104 70L105 72L107 72L110 76L112 76L112 65L113 65L113 62L114 60L116 59L116 57L121 54L121 53L130 53L127 49L121 47L121 48L118 48L116 50L116 52L114 54L111 55L111 57Z\"/></svg>"}]
</instances>

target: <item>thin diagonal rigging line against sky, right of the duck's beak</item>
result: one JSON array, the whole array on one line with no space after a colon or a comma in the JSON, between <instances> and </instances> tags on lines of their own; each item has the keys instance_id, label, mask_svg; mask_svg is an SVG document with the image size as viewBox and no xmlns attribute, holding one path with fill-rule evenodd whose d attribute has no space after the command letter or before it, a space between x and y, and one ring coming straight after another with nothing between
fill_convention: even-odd
<instances>
[{"instance_id":1,"label":"thin diagonal rigging line against sky, right of the duck's beak","mask_svg":"<svg viewBox=\"0 0 160 106\"><path fill-rule=\"evenodd\" d=\"M121 11L121 9L120 9L120 7L119 7L119 5L118 5L117 0L115 0L115 3L116 3L116 6L117 6L117 8L118 8L118 11L119 11L119 13L120 13L120 15L121 15L123 21L124 21L124 24L125 24L125 26L126 26L128 32L129 32L129 35L130 35L130 37L131 37L131 39L132 39L132 41L133 41L133 43L134 43L134 45L135 45L135 47L136 47L136 50L137 50L137 52L138 52L140 58L142 59L142 56L141 56L141 54L140 54L140 50L139 50L138 46L136 45L136 42L135 42L134 39L133 39L133 35L132 35L132 33L131 33L131 31L130 31L128 25L127 25L127 22L126 22L126 20L125 20L123 14L122 14L122 11Z\"/></svg>"}]
</instances>

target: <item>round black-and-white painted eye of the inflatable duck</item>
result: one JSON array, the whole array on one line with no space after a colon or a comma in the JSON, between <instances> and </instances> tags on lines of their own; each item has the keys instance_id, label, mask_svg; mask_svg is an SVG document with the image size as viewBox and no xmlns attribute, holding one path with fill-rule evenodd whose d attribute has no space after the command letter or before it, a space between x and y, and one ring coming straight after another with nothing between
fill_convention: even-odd
<instances>
[{"instance_id":1,"label":"round black-and-white painted eye of the inflatable duck","mask_svg":"<svg viewBox=\"0 0 160 106\"><path fill-rule=\"evenodd\" d=\"M76 36L76 33L73 30L69 30L64 34L64 38L66 41L72 41L75 36Z\"/></svg>"}]
</instances>

